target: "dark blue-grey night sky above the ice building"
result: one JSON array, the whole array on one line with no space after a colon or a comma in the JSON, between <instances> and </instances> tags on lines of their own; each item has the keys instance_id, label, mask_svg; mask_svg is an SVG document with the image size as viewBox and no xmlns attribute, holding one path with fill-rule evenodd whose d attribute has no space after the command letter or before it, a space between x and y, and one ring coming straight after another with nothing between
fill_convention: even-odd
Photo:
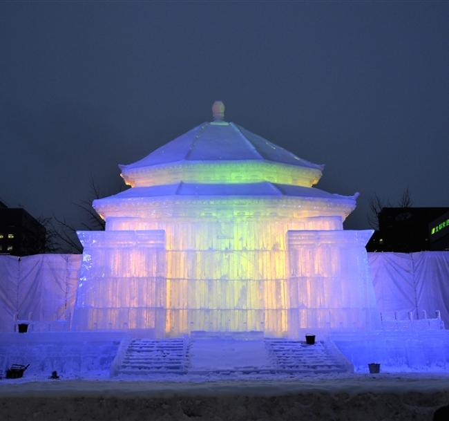
<instances>
[{"instance_id":1,"label":"dark blue-grey night sky above the ice building","mask_svg":"<svg viewBox=\"0 0 449 421\"><path fill-rule=\"evenodd\" d=\"M0 3L0 200L73 205L222 100L316 187L449 206L449 2Z\"/></svg>"}]
</instances>

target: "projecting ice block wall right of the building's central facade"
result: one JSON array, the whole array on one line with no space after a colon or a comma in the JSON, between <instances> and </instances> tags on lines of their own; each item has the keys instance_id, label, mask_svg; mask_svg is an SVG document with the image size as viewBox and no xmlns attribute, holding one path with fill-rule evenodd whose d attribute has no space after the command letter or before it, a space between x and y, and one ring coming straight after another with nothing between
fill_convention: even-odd
<instances>
[{"instance_id":1,"label":"projecting ice block wall right of the building's central facade","mask_svg":"<svg viewBox=\"0 0 449 421\"><path fill-rule=\"evenodd\" d=\"M365 244L372 230L289 231L290 328L370 329L379 324Z\"/></svg>"}]
</instances>

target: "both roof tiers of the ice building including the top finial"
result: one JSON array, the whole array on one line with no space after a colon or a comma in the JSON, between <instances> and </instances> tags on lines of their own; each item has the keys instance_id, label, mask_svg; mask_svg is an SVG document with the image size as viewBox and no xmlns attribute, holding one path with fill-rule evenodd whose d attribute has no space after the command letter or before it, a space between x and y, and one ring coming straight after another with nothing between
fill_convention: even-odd
<instances>
[{"instance_id":1,"label":"both roof tiers of the ice building including the top finial","mask_svg":"<svg viewBox=\"0 0 449 421\"><path fill-rule=\"evenodd\" d=\"M133 188L95 200L97 212L106 218L131 216L141 212L136 209L166 203L220 207L220 200L343 219L352 212L358 194L341 196L312 187L323 165L223 121L224 111L224 104L215 102L213 122L200 124L133 164L120 165L122 177Z\"/></svg>"}]
</instances>

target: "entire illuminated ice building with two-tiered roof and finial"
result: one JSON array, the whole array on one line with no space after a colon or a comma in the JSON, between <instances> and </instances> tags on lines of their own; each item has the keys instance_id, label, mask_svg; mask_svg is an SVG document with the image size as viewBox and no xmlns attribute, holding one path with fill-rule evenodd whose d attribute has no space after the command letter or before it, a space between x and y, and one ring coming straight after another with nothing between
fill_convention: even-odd
<instances>
[{"instance_id":1,"label":"entire illuminated ice building with two-tiered roof and finial","mask_svg":"<svg viewBox=\"0 0 449 421\"><path fill-rule=\"evenodd\" d=\"M104 232L84 245L73 327L263 331L372 328L365 244L343 230L356 197L314 186L323 166L224 120L120 165L131 188L95 200Z\"/></svg>"}]
</instances>

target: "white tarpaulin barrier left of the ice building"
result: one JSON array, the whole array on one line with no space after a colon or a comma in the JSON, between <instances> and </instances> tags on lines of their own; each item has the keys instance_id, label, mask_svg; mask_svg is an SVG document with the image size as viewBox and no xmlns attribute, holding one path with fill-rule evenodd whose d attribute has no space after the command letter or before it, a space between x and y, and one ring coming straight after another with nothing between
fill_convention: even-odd
<instances>
[{"instance_id":1,"label":"white tarpaulin barrier left of the ice building","mask_svg":"<svg viewBox=\"0 0 449 421\"><path fill-rule=\"evenodd\" d=\"M68 321L75 303L81 254L0 256L0 330L15 321Z\"/></svg>"}]
</instances>

